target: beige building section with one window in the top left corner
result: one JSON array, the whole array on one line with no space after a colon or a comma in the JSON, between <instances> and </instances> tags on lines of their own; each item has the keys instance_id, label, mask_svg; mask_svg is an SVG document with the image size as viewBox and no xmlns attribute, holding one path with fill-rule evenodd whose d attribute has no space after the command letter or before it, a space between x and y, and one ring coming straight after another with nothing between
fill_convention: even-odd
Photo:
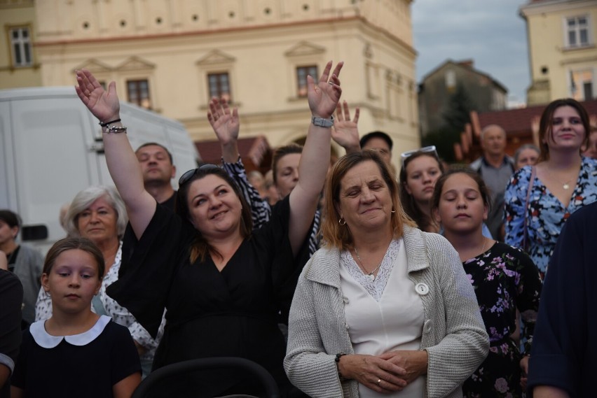
<instances>
[{"instance_id":1,"label":"beige building section with one window in the top left corner","mask_svg":"<svg viewBox=\"0 0 597 398\"><path fill-rule=\"evenodd\" d=\"M0 0L0 89L41 85L34 0Z\"/></svg>"}]
</instances>

